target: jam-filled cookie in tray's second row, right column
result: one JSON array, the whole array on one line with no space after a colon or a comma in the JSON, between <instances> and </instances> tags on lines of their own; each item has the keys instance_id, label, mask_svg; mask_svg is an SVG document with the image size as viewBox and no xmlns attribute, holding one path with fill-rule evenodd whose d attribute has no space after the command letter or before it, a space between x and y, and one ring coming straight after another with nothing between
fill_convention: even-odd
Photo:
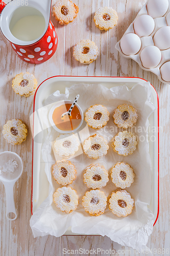
<instances>
[{"instance_id":1,"label":"jam-filled cookie in tray's second row, right column","mask_svg":"<svg viewBox=\"0 0 170 256\"><path fill-rule=\"evenodd\" d=\"M127 131L119 132L112 142L114 152L123 156L131 155L136 150L136 145L136 136Z\"/></svg>"}]
</instances>

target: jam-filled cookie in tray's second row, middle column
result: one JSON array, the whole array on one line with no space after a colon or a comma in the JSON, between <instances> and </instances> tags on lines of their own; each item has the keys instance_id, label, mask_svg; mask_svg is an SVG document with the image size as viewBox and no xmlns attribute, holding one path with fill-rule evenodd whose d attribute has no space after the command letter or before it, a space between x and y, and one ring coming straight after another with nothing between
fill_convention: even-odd
<instances>
[{"instance_id":1,"label":"jam-filled cookie in tray's second row, middle column","mask_svg":"<svg viewBox=\"0 0 170 256\"><path fill-rule=\"evenodd\" d=\"M85 155L89 158L97 159L107 154L109 146L107 140L105 140L99 134L93 134L87 140L84 141L83 150Z\"/></svg>"}]
</instances>

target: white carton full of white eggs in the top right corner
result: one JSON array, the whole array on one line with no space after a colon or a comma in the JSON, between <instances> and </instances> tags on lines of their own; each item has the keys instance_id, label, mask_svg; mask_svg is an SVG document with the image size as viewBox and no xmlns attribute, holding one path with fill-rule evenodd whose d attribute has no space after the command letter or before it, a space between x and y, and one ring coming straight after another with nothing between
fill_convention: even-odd
<instances>
[{"instance_id":1,"label":"white carton full of white eggs in the top right corner","mask_svg":"<svg viewBox=\"0 0 170 256\"><path fill-rule=\"evenodd\" d=\"M170 83L170 0L149 0L115 48L161 82Z\"/></svg>"}]
</instances>

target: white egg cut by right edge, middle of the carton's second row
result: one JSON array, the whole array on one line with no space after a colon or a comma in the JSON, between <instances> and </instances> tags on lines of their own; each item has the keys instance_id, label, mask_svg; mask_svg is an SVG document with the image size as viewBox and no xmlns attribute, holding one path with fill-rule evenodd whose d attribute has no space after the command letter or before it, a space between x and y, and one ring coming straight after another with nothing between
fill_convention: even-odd
<instances>
[{"instance_id":1,"label":"white egg cut by right edge, middle of the carton's second row","mask_svg":"<svg viewBox=\"0 0 170 256\"><path fill-rule=\"evenodd\" d=\"M166 50L170 47L170 27L160 28L154 35L154 45L160 50Z\"/></svg>"}]
</instances>

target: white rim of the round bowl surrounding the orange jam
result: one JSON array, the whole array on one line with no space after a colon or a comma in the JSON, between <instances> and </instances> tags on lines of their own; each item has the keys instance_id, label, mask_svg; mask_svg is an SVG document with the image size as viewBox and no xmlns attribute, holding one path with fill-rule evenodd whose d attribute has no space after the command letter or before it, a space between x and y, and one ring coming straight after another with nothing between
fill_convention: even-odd
<instances>
[{"instance_id":1,"label":"white rim of the round bowl surrounding the orange jam","mask_svg":"<svg viewBox=\"0 0 170 256\"><path fill-rule=\"evenodd\" d=\"M55 104L54 106L52 106L52 108L51 108L51 110L50 110L50 112L49 112L49 114L48 114L48 119L50 120L51 125L53 126L53 128L54 128L57 132L59 132L59 133L74 133L74 132L76 132L76 131L80 128L80 126L81 126L82 123L83 123L83 119L84 119L83 111L82 111L82 109L80 108L80 106L79 106L77 103L76 103L75 105L77 106L77 108L78 108L79 111L80 111L81 122L80 122L79 126L78 126L76 129L70 130L70 131L62 131L62 130L60 130L60 129L57 128L57 126L55 125L55 123L54 123L54 121L53 121L53 112L54 112L54 110L55 110L56 108L58 108L58 106L63 105L64 103L65 103L65 104L72 104L73 101L71 101L71 100L61 100L61 101L56 102L56 104Z\"/></svg>"}]
</instances>

